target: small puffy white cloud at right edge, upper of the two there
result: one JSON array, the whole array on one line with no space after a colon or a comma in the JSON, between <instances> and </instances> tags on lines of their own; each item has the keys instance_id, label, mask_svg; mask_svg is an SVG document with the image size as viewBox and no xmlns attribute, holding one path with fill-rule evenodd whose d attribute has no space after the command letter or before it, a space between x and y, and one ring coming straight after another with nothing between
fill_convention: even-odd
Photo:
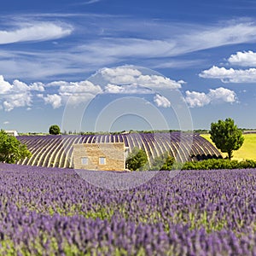
<instances>
[{"instance_id":1,"label":"small puffy white cloud at right edge, upper of the two there","mask_svg":"<svg viewBox=\"0 0 256 256\"><path fill-rule=\"evenodd\" d=\"M241 67L256 67L256 53L252 50L238 51L236 55L230 55L228 61L230 64Z\"/></svg>"}]
</instances>

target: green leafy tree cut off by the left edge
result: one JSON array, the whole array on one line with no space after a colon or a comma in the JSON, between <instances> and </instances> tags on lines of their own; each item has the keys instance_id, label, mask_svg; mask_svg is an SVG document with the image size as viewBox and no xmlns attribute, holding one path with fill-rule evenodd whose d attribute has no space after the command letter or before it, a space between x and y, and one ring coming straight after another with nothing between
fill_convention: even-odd
<instances>
[{"instance_id":1,"label":"green leafy tree cut off by the left edge","mask_svg":"<svg viewBox=\"0 0 256 256\"><path fill-rule=\"evenodd\" d=\"M26 145L20 143L14 136L9 136L5 131L0 131L0 161L15 164L18 160L31 157Z\"/></svg>"}]
</instances>

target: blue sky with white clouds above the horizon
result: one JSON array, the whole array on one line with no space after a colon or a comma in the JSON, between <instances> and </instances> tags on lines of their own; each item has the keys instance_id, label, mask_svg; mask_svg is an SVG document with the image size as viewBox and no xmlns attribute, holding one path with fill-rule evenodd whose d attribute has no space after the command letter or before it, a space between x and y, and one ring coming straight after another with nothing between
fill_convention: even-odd
<instances>
[{"instance_id":1,"label":"blue sky with white clouds above the horizon","mask_svg":"<svg viewBox=\"0 0 256 256\"><path fill-rule=\"evenodd\" d=\"M249 0L4 1L0 126L209 129L231 117L256 128L255 10Z\"/></svg>"}]
</instances>

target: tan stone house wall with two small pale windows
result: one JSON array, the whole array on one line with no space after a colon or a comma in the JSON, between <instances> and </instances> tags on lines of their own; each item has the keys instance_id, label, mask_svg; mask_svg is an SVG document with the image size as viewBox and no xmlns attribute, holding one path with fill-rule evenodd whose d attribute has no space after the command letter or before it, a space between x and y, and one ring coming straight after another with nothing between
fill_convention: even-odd
<instances>
[{"instance_id":1,"label":"tan stone house wall with two small pale windows","mask_svg":"<svg viewBox=\"0 0 256 256\"><path fill-rule=\"evenodd\" d=\"M125 143L73 144L75 169L124 171Z\"/></svg>"}]
</instances>

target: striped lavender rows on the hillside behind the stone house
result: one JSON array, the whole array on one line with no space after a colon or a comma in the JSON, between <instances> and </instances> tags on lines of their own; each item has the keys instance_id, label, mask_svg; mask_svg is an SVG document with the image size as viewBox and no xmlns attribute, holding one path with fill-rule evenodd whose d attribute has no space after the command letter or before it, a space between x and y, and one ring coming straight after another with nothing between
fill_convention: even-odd
<instances>
[{"instance_id":1,"label":"striped lavender rows on the hillside behind the stone house","mask_svg":"<svg viewBox=\"0 0 256 256\"><path fill-rule=\"evenodd\" d=\"M131 133L73 136L20 136L32 152L32 158L19 164L31 166L73 167L74 143L125 143L131 151L138 147L145 150L148 160L169 152L180 162L191 159L219 157L218 149L206 139L192 133Z\"/></svg>"}]
</instances>

